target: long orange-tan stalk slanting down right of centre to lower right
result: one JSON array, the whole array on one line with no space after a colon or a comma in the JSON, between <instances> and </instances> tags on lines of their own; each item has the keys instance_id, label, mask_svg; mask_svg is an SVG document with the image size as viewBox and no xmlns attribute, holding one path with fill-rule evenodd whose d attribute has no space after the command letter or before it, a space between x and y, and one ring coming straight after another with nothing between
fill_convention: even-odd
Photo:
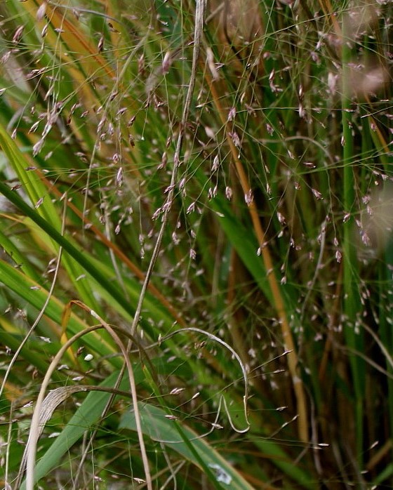
<instances>
[{"instance_id":1,"label":"long orange-tan stalk slanting down right of centre to lower right","mask_svg":"<svg viewBox=\"0 0 393 490\"><path fill-rule=\"evenodd\" d=\"M205 74L205 77L208 82L208 86L211 90L211 94L213 96L213 102L220 116L222 126L226 126L227 117L225 115L224 110L222 110L222 106L220 104L220 98L215 89L213 81L211 80L211 77L207 73ZM244 166L241 164L241 161L238 157L239 152L237 150L237 147L235 147L232 138L229 136L227 132L226 132L226 138L227 138L227 143L229 145L229 148L231 150L232 159L234 161L234 166L237 171L237 176L239 178L241 188L245 196L250 196L251 187L248 182L246 172L244 171ZM295 392L296 407L298 412L298 435L302 442L308 442L309 437L308 437L308 421L307 421L307 404L305 399L305 391L298 371L298 355L296 354L295 343L293 342L291 326L289 325L288 318L286 316L284 300L281 295L276 274L274 273L272 256L270 255L269 248L265 246L265 231L262 229L262 225L260 223L260 219L258 216L258 208L255 205L255 201L253 201L253 199L251 199L251 202L249 202L248 204L248 211L250 213L251 220L253 222L253 228L258 240L258 244L260 245L261 248L262 259L267 273L269 288L270 291L272 291L274 308L277 311L277 316L279 317L279 324L281 326L281 334L284 340L284 345L286 350L288 350L288 355L287 355L288 370L292 378L293 390Z\"/></svg>"}]
</instances>

